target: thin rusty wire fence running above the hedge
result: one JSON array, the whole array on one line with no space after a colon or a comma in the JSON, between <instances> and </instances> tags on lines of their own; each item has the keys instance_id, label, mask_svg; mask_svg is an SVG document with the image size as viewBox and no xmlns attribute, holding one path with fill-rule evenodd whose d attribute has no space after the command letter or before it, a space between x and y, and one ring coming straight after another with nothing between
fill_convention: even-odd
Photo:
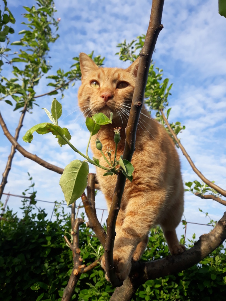
<instances>
[{"instance_id":1,"label":"thin rusty wire fence running above the hedge","mask_svg":"<svg viewBox=\"0 0 226 301\"><path fill-rule=\"evenodd\" d=\"M4 206L2 208L2 213L1 213L1 216L0 216L0 219L2 219L2 216L4 214L4 211L5 211L5 208L7 206L7 203L8 203L8 200L9 200L9 197L12 196L12 197L19 197L19 198L22 198L22 199L27 199L27 200L31 200L31 198L29 196L24 196L24 195L18 195L18 194L10 194L10 193L3 193L4 195L6 195L6 199L5 199L5 203L4 203ZM54 209L55 209L55 206L58 204L58 205L63 205L63 206L67 206L67 204L65 203L60 203L58 201L55 201L55 202L52 202L52 201L45 201L45 200L38 200L38 199L35 199L36 202L43 202L43 203L52 203L53 204L53 210L52 210L52 214L51 214L51 218L50 218L50 221L52 219L52 216L53 216L53 213L54 213ZM83 208L84 206L80 206L80 205L76 205L75 206L77 208L77 214L76 214L76 217L78 215L78 212L79 212L79 209L80 208ZM71 208L71 206L67 206L67 208ZM103 209L103 208L96 208L96 210L101 210L102 211L102 215L101 215L101 219L100 219L100 224L102 223L102 219L103 219L103 215L104 215L104 212L105 211L108 211L107 209ZM195 225L202 225L202 226L209 226L209 227L214 227L214 225L210 225L210 224L201 224L201 223L196 223L196 222L188 222L187 220L182 220L181 221L184 225L184 240L186 238L186 232L187 232L187 224L195 224Z\"/></svg>"}]
</instances>

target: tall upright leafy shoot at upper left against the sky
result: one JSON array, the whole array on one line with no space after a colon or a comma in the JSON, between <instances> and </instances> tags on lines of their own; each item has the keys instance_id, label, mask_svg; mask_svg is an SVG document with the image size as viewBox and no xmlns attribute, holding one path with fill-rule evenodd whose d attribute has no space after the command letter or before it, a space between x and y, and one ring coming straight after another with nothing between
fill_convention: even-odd
<instances>
[{"instance_id":1,"label":"tall upright leafy shoot at upper left against the sky","mask_svg":"<svg viewBox=\"0 0 226 301\"><path fill-rule=\"evenodd\" d=\"M36 7L24 7L27 13L24 18L28 23L22 22L27 26L19 32L22 38L14 41L11 45L22 46L24 49L13 54L10 61L13 68L14 77L7 79L2 76L1 82L5 85L0 86L2 92L1 100L11 96L16 101L14 110L26 105L27 109L33 108L35 99L34 87L38 85L40 78L50 70L51 66L46 61L49 51L49 43L53 43L58 35L52 33L53 28L58 30L58 21L53 17L54 8L53 0L38 0ZM11 100L5 100L8 104L13 105Z\"/></svg>"}]
</instances>

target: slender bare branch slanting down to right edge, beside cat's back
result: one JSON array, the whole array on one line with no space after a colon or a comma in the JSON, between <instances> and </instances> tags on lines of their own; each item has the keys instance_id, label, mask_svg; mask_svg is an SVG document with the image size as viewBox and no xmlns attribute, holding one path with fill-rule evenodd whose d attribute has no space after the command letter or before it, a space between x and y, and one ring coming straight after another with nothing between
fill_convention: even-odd
<instances>
[{"instance_id":1,"label":"slender bare branch slanting down to right edge, beside cat's back","mask_svg":"<svg viewBox=\"0 0 226 301\"><path fill-rule=\"evenodd\" d=\"M216 191L218 191L221 195L223 195L224 197L226 197L226 190L222 189L221 187L215 185L214 183L212 183L211 181L209 181L195 166L195 164L193 163L193 161L191 160L191 158L189 157L188 153L185 151L183 145L180 143L180 140L177 138L177 135L174 133L174 131L171 129L170 124L168 123L167 118L165 117L163 110L160 110L162 117L165 121L165 124L167 125L171 135L173 136L173 138L177 141L178 146L180 147L183 155L185 156L185 158L188 160L188 163L190 164L191 168L193 169L193 171L196 173L196 175L199 176L199 178L206 183L209 187L215 189Z\"/></svg>"}]
</instances>

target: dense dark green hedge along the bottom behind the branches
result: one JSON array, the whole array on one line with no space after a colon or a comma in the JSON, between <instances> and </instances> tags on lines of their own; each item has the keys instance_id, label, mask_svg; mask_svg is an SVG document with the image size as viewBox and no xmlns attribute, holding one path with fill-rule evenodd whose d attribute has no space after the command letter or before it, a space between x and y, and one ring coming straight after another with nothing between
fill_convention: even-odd
<instances>
[{"instance_id":1,"label":"dense dark green hedge along the bottom behind the branches","mask_svg":"<svg viewBox=\"0 0 226 301\"><path fill-rule=\"evenodd\" d=\"M66 234L70 239L70 216L63 208L57 208L56 221L49 222L44 210L35 213L33 205L29 207L25 201L22 201L22 209L23 219L9 209L1 219L0 299L61 300L73 266L71 250L63 238ZM80 227L80 249L86 265L103 253L98 239L85 225ZM162 230L152 229L142 259L154 260L167 255ZM186 271L147 281L133 300L223 301L226 296L225 259L225 246L221 245ZM72 299L109 300L114 289L104 276L100 266L81 275Z\"/></svg>"}]
</instances>

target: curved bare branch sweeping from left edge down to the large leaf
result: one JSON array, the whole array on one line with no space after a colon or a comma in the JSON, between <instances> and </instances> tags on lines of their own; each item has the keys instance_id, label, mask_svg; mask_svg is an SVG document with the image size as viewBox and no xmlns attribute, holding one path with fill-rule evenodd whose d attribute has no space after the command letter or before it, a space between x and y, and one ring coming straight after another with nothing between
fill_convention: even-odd
<instances>
[{"instance_id":1,"label":"curved bare branch sweeping from left edge down to the large leaf","mask_svg":"<svg viewBox=\"0 0 226 301\"><path fill-rule=\"evenodd\" d=\"M20 154L22 154L24 157L27 157L28 159L30 160L33 160L35 161L36 163L38 163L39 165L47 168L47 169L50 169L52 171L55 171L59 174L62 174L64 169L63 168L60 168L58 166L55 166L53 164L50 164L49 162L45 161L45 160L42 160L41 158L39 158L38 156L34 155L34 154L31 154L29 153L28 151L26 151L17 141L16 139L10 134L10 132L8 131L7 129L7 126L2 118L2 115L0 113L0 125L2 126L2 129L3 129L3 132L4 134L6 135L6 137L8 138L8 140L12 143L13 147L15 149L17 149Z\"/></svg>"}]
</instances>

